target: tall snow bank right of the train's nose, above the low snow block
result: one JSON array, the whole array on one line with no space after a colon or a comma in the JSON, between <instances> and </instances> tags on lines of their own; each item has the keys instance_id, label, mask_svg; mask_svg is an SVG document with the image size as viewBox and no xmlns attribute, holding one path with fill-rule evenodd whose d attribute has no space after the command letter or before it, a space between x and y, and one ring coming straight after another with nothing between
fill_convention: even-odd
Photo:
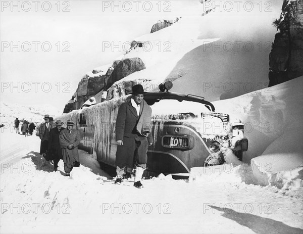
<instances>
[{"instance_id":1,"label":"tall snow bank right of the train's nose, above the low snow block","mask_svg":"<svg viewBox=\"0 0 303 234\"><path fill-rule=\"evenodd\" d=\"M214 102L216 111L230 114L230 121L244 123L248 151L244 162L260 155L302 157L303 79L284 82L229 100ZM299 165L301 162L297 162Z\"/></svg>"}]
</instances>

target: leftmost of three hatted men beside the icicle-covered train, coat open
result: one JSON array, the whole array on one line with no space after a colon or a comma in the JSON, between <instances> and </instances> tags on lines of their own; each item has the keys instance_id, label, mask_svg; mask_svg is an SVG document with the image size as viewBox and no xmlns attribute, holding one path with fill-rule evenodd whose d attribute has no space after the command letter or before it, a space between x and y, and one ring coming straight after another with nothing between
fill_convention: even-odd
<instances>
[{"instance_id":1,"label":"leftmost of three hatted men beside the icicle-covered train, coat open","mask_svg":"<svg viewBox=\"0 0 303 234\"><path fill-rule=\"evenodd\" d=\"M40 144L40 155L42 155L42 165L45 166L45 158L46 151L48 149L48 137L49 137L49 131L54 128L53 125L49 123L49 115L44 115L45 123L42 123L39 127L39 137L41 139Z\"/></svg>"}]
</instances>

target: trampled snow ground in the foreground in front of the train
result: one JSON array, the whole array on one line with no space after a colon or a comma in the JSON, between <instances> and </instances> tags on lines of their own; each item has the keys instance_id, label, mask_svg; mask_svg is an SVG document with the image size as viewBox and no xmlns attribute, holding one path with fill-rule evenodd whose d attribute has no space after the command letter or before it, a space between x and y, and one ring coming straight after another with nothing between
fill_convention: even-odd
<instances>
[{"instance_id":1,"label":"trampled snow ground in the foreground in front of the train","mask_svg":"<svg viewBox=\"0 0 303 234\"><path fill-rule=\"evenodd\" d=\"M81 166L41 167L39 138L1 133L1 232L302 233L302 191L206 174L114 185L81 151ZM89 166L85 167L83 166ZM247 170L248 171L248 170ZM249 173L249 172L247 172Z\"/></svg>"}]
</instances>

